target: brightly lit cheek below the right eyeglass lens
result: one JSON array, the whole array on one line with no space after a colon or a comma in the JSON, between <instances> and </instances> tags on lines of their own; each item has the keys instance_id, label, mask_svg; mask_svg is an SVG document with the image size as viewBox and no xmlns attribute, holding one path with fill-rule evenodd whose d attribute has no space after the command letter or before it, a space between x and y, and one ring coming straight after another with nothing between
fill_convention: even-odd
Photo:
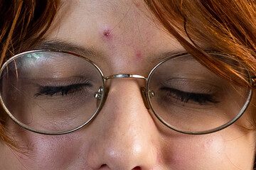
<instances>
[{"instance_id":1,"label":"brightly lit cheek below the right eyeglass lens","mask_svg":"<svg viewBox=\"0 0 256 170\"><path fill-rule=\"evenodd\" d=\"M208 135L165 137L163 160L173 169L251 169L255 132L239 125Z\"/></svg>"}]
</instances>

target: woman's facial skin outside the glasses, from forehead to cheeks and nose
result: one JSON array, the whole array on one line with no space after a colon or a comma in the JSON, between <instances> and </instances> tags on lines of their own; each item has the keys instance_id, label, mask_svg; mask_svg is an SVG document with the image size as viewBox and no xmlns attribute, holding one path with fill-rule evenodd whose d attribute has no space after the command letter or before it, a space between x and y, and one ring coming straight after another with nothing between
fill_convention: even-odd
<instances>
[{"instance_id":1,"label":"woman's facial skin outside the glasses, from forehead to cheeks and nose","mask_svg":"<svg viewBox=\"0 0 256 170\"><path fill-rule=\"evenodd\" d=\"M185 52L157 26L142 1L63 1L44 40L55 42L52 47L59 50L67 50L60 42L92 50L97 55L87 58L105 76L147 77L163 60L161 54ZM63 72L79 72L80 63L75 63L75 68ZM176 65L186 72L181 62ZM1 143L1 169L252 169L255 132L242 125L249 124L253 108L247 108L238 122L224 130L185 135L166 128L149 113L140 91L143 80L111 79L107 86L100 113L75 132L39 135L13 123L15 140L25 153ZM75 103L69 103L69 108Z\"/></svg>"}]
</instances>

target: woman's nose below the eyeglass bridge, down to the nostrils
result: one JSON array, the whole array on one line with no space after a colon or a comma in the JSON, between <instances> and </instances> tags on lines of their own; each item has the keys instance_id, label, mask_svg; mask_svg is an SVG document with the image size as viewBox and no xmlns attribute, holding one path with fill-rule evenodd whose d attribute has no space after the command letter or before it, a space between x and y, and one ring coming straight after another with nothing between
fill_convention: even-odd
<instances>
[{"instance_id":1,"label":"woman's nose below the eyeglass bridge, down to the nostrils","mask_svg":"<svg viewBox=\"0 0 256 170\"><path fill-rule=\"evenodd\" d=\"M87 157L92 169L154 169L158 133L137 80L112 79L92 125L96 137Z\"/></svg>"}]
</instances>

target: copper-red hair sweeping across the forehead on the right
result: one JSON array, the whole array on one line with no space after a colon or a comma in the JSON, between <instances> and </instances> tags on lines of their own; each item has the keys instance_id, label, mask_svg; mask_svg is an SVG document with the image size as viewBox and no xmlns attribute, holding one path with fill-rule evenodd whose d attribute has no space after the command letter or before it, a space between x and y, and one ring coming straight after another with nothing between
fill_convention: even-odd
<instances>
[{"instance_id":1,"label":"copper-red hair sweeping across the forehead on the right","mask_svg":"<svg viewBox=\"0 0 256 170\"><path fill-rule=\"evenodd\" d=\"M203 47L196 42L235 58L252 74L256 74L255 1L145 0L145 2L161 25L181 45L198 62L220 77L226 79L233 77L235 83L247 84L238 70L209 57L203 51Z\"/></svg>"}]
</instances>

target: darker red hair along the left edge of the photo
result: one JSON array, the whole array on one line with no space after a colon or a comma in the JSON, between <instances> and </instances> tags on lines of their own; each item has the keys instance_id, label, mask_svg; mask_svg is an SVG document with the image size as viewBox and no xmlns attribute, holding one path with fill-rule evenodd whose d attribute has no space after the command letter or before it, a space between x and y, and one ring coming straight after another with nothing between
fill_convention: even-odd
<instances>
[{"instance_id":1,"label":"darker red hair along the left edge of the photo","mask_svg":"<svg viewBox=\"0 0 256 170\"><path fill-rule=\"evenodd\" d=\"M0 64L9 57L33 47L50 27L59 6L58 0L9 0L0 4ZM4 129L4 110L0 114L1 140L16 148L14 140L6 135Z\"/></svg>"}]
</instances>

